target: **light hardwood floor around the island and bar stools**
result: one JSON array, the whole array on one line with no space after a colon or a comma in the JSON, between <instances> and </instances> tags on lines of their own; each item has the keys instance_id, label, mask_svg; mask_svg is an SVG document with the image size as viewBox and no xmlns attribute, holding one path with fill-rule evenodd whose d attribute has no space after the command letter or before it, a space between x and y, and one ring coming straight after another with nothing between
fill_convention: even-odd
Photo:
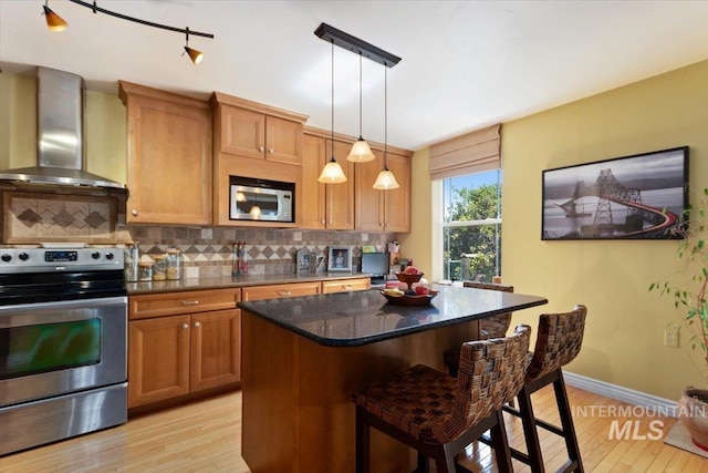
<instances>
[{"instance_id":1,"label":"light hardwood floor around the island and bar stools","mask_svg":"<svg viewBox=\"0 0 708 473\"><path fill-rule=\"evenodd\" d=\"M708 473L708 460L669 446L662 440L610 439L613 420L620 420L621 424L625 420L639 421L639 434L650 434L649 422L660 421L664 433L668 434L675 419L607 417L605 407L627 404L571 387L568 390L575 409L575 429L585 471ZM539 417L558 420L550 387L534 393L532 399ZM584 414L583 408L586 408ZM520 422L508 418L507 430L510 443L522 448ZM550 433L541 431L540 435L546 469L551 471L565 461L564 444ZM240 444L241 394L233 392L0 457L0 472L248 472ZM468 457L462 462L467 467L497 471L488 446L475 443L467 453ZM514 461L514 471L528 473L530 470Z\"/></svg>"}]
</instances>

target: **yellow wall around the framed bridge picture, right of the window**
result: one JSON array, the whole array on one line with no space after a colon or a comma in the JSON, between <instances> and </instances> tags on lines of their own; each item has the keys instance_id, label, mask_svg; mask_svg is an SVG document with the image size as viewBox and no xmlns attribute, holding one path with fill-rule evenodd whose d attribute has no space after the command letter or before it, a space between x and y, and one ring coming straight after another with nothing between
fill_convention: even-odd
<instances>
[{"instance_id":1,"label":"yellow wall around the framed bridge picture, right of the window","mask_svg":"<svg viewBox=\"0 0 708 473\"><path fill-rule=\"evenodd\" d=\"M580 357L569 371L677 399L705 383L689 335L664 347L680 321L669 298L648 294L680 265L675 241L542 241L541 172L690 146L690 200L708 186L708 61L524 117L502 127L502 274L517 291L546 296L544 310L589 307ZM516 321L535 326L534 311ZM701 366L700 361L697 360Z\"/></svg>"}]
</instances>

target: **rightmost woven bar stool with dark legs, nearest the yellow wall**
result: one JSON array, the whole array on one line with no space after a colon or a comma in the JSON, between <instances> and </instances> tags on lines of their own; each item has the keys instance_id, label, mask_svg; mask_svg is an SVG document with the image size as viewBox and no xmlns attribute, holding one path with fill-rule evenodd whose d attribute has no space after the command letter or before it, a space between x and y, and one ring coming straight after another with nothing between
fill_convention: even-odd
<instances>
[{"instance_id":1,"label":"rightmost woven bar stool with dark legs, nearest the yellow wall","mask_svg":"<svg viewBox=\"0 0 708 473\"><path fill-rule=\"evenodd\" d=\"M523 388L517 397L519 410L509 405L503 407L506 412L521 418L527 451L529 452L524 454L511 449L511 454L514 459L529 464L534 473L545 471L537 426L553 432L565 440L569 460L559 471L584 471L561 368L571 362L580 352L586 313L587 308L577 305L570 312L541 315L533 358L527 370ZM535 419L531 405L531 394L551 383L555 392L561 428Z\"/></svg>"}]
</instances>

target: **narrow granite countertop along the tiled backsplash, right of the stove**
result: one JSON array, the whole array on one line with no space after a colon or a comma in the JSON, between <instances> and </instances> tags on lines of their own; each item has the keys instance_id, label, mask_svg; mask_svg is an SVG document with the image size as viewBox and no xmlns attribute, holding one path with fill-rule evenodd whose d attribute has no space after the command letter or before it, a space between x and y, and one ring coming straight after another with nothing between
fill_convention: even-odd
<instances>
[{"instance_id":1,"label":"narrow granite countertop along the tiled backsplash, right of the stove","mask_svg":"<svg viewBox=\"0 0 708 473\"><path fill-rule=\"evenodd\" d=\"M128 296L139 294L177 292L183 290L225 289L246 286L326 281L330 279L366 278L364 273L316 273L308 275L243 275L238 277L225 276L220 278L188 278L170 281L126 282Z\"/></svg>"}]
</instances>

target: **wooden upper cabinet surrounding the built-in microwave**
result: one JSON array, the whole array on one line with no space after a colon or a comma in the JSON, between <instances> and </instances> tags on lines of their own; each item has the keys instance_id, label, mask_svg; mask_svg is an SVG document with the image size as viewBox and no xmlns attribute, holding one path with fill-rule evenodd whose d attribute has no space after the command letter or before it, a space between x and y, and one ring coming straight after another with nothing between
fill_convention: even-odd
<instances>
[{"instance_id":1,"label":"wooden upper cabinet surrounding the built-in microwave","mask_svg":"<svg viewBox=\"0 0 708 473\"><path fill-rule=\"evenodd\" d=\"M295 227L296 224L229 219L229 176L295 183L295 218L302 198L305 115L215 92L214 224Z\"/></svg>"}]
</instances>

